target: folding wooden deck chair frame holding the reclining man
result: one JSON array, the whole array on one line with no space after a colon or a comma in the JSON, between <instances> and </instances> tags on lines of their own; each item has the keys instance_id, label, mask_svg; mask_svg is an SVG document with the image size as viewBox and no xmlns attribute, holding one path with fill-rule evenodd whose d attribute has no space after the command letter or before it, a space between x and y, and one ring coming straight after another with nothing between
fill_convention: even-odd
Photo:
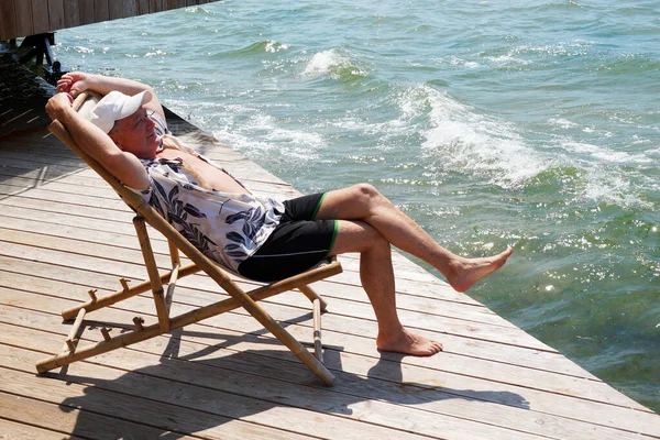
<instances>
[{"instance_id":1,"label":"folding wooden deck chair frame holding the reclining man","mask_svg":"<svg viewBox=\"0 0 660 440\"><path fill-rule=\"evenodd\" d=\"M81 94L74 102L74 108L79 109L80 106L89 98L88 94ZM96 97L95 99L98 99ZM251 292L244 292L237 283L234 283L223 268L217 263L209 260L199 252L190 242L188 242L176 229L174 229L165 219L163 219L151 206L144 202L140 196L131 191L112 175L102 165L91 158L84 150L74 141L65 127L59 121L54 121L48 130L53 132L64 144L73 150L80 158L82 158L94 170L96 170L136 212L133 219L144 264L148 279L129 287L125 279L120 279L122 288L116 293L97 298L95 292L89 290L90 300L64 310L62 316L65 320L74 319L74 324L69 331L65 344L59 353L40 361L36 364L36 370L40 373L50 370L68 365L73 362L80 361L97 354L106 353L123 346L155 338L160 334L172 330L180 329L190 323L199 322L202 319L210 318L226 311L243 307L252 315L261 324L263 324L271 333L282 341L305 365L309 367L326 385L331 385L334 376L322 364L322 352L320 341L320 314L326 309L326 301L316 294L309 284L327 278L329 276L342 272L341 265L336 258L332 258L329 264L312 268L302 274L283 279L266 286L257 287ZM154 254L151 248L151 242L146 232L145 221L148 222L155 230L161 232L169 243L169 255L172 260L172 270L164 274L160 274ZM186 266L180 265L179 253L182 251L187 255L193 263ZM209 306L199 307L176 317L169 317L169 307L166 298L172 298L178 278L186 275L197 273L199 271L208 274L218 285L223 288L231 298L213 302ZM164 292L163 284L167 283L167 292ZM86 346L77 346L78 334L86 314L94 310L108 307L123 299L133 297L141 293L147 292L151 288L155 302L156 315L158 322L152 326L142 326L144 322L140 317L133 319L134 330L111 338L107 329L102 328L101 333L103 340L97 343L91 343ZM314 312L314 345L316 358L307 349L300 344L289 332L287 332L277 321L268 316L256 301L272 297L274 295L292 290L300 290L312 302Z\"/></svg>"}]
</instances>

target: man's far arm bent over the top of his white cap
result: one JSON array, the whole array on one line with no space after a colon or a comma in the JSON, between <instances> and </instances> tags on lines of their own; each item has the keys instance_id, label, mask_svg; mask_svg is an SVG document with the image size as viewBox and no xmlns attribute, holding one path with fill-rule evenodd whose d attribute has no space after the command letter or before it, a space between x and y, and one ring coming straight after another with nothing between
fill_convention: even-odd
<instances>
[{"instance_id":1,"label":"man's far arm bent over the top of his white cap","mask_svg":"<svg viewBox=\"0 0 660 440\"><path fill-rule=\"evenodd\" d=\"M134 81L132 79L84 74L81 72L65 74L57 81L57 91L67 92L74 98L85 90L96 91L99 95L108 95L112 90L117 90L128 96L134 96L143 90L148 90L153 98L145 103L144 107L148 110L154 110L163 117L163 120L165 120L165 112L163 111L163 106L161 106L156 92L146 84Z\"/></svg>"}]
</instances>

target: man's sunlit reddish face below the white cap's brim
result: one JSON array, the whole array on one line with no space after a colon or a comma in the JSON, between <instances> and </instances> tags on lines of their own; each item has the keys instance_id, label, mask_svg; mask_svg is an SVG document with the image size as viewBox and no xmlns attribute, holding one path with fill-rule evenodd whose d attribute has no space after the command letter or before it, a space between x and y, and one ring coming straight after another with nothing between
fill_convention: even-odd
<instances>
[{"instance_id":1,"label":"man's sunlit reddish face below the white cap's brim","mask_svg":"<svg viewBox=\"0 0 660 440\"><path fill-rule=\"evenodd\" d=\"M154 158L161 145L155 127L142 107L130 117L114 122L110 138L122 151L133 153L139 158Z\"/></svg>"}]
</instances>

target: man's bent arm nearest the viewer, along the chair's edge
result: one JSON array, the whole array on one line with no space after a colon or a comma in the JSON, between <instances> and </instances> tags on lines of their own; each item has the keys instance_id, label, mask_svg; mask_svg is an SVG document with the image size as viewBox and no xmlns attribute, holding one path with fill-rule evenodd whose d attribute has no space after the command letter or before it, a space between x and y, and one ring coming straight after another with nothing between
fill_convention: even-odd
<instances>
[{"instance_id":1,"label":"man's bent arm nearest the viewer, along the chair's edge","mask_svg":"<svg viewBox=\"0 0 660 440\"><path fill-rule=\"evenodd\" d=\"M81 118L72 107L67 94L57 94L48 100L46 111L58 120L78 145L124 185L147 189L148 175L135 155L122 152L101 129Z\"/></svg>"}]
</instances>

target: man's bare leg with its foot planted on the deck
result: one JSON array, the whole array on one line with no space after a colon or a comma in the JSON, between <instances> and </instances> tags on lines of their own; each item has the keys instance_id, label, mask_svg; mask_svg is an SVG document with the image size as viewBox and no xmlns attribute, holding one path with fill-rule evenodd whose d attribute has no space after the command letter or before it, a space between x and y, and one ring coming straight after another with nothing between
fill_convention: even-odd
<instances>
[{"instance_id":1,"label":"man's bare leg with its foot planted on the deck","mask_svg":"<svg viewBox=\"0 0 660 440\"><path fill-rule=\"evenodd\" d=\"M418 356L441 351L441 343L410 333L398 319L392 250L387 240L367 223L340 220L331 254L346 252L360 252L360 280L378 321L376 346Z\"/></svg>"}]
</instances>

